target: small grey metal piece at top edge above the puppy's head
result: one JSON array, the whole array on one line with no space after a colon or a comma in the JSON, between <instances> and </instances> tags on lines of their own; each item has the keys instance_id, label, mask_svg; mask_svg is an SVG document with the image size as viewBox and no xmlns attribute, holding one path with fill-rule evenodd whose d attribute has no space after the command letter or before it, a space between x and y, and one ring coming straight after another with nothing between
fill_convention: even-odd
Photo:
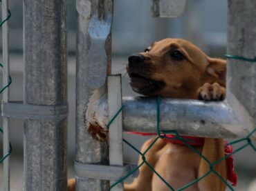
<instances>
[{"instance_id":1,"label":"small grey metal piece at top edge above the puppy's head","mask_svg":"<svg viewBox=\"0 0 256 191\"><path fill-rule=\"evenodd\" d=\"M185 10L186 0L153 0L154 17L180 17Z\"/></svg>"}]
</instances>

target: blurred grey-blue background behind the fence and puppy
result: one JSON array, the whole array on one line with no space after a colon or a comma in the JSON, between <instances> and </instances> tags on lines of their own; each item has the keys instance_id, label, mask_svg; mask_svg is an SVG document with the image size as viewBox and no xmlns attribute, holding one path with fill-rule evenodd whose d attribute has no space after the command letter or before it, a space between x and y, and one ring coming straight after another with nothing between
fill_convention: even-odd
<instances>
[{"instance_id":1,"label":"blurred grey-blue background behind the fence and puppy","mask_svg":"<svg viewBox=\"0 0 256 191\"><path fill-rule=\"evenodd\" d=\"M75 1L68 0L68 177L73 177L73 157L75 154ZM10 86L11 101L23 100L23 32L22 1L10 1L12 17L10 25ZM137 95L129 87L125 75L127 57L134 52L143 51L152 42L167 37L183 38L192 41L210 57L222 57L226 52L227 2L223 0L189 0L184 14L179 18L152 18L152 1L114 0L112 30L112 71L123 74L123 96ZM1 41L1 39L0 39ZM13 152L10 156L11 190L23 190L23 121L10 121L10 140ZM137 148L148 139L127 135ZM2 156L2 137L0 134L0 157ZM235 154L235 169L238 185L235 190L248 190L256 178L256 153L246 148ZM125 147L125 161L137 163L136 152ZM0 164L0 190L2 179Z\"/></svg>"}]
</instances>

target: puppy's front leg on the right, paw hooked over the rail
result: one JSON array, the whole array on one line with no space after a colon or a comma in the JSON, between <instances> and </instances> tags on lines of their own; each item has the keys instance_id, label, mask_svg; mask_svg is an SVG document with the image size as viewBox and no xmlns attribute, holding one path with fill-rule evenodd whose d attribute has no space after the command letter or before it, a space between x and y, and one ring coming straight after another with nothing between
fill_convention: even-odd
<instances>
[{"instance_id":1,"label":"puppy's front leg on the right, paw hooked over the rail","mask_svg":"<svg viewBox=\"0 0 256 191\"><path fill-rule=\"evenodd\" d=\"M198 98L203 101L221 101L226 98L226 88L219 85L219 83L205 83L199 90L197 90ZM213 163L225 156L223 139L205 138L202 154L204 157ZM224 180L227 179L226 161L223 160L213 166L213 169L219 173ZM198 178L204 176L210 171L210 164L201 158L199 164ZM217 177L214 172L211 172L207 177L199 181L199 190L209 191L224 191L226 189L225 183Z\"/></svg>"}]
</instances>

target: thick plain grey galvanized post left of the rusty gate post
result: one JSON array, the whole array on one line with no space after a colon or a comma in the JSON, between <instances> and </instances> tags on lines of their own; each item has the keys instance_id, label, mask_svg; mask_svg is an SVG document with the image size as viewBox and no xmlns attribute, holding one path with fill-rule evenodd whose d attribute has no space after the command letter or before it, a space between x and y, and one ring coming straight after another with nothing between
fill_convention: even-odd
<instances>
[{"instance_id":1,"label":"thick plain grey galvanized post left of the rusty gate post","mask_svg":"<svg viewBox=\"0 0 256 191\"><path fill-rule=\"evenodd\" d=\"M24 0L24 104L66 104L66 0ZM24 190L66 190L66 118L26 119Z\"/></svg>"}]
</instances>

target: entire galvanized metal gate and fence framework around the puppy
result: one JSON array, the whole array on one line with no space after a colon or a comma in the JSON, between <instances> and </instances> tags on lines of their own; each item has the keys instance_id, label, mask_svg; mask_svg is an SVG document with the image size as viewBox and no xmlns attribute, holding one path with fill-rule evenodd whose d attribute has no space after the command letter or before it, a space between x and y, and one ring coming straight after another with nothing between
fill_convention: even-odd
<instances>
[{"instance_id":1,"label":"entire galvanized metal gate and fence framework around the puppy","mask_svg":"<svg viewBox=\"0 0 256 191\"><path fill-rule=\"evenodd\" d=\"M256 139L256 1L228 1L226 101L163 99L158 107L154 98L122 98L120 76L107 81L113 0L76 0L76 6L77 190L108 190L109 180L117 184L113 190L123 190L118 180L134 172L134 166L122 161L122 130L156 132L158 124L163 131L179 134L246 137L240 140L254 147L250 141ZM184 8L185 0L154 0L152 11L156 17L176 17ZM7 0L2 12L8 18ZM10 83L8 60L6 22L3 86ZM10 190L8 128L9 118L16 117L25 119L25 190L65 190L66 1L24 0L24 63L24 102L10 102L8 88L3 92L3 189Z\"/></svg>"}]
</instances>

